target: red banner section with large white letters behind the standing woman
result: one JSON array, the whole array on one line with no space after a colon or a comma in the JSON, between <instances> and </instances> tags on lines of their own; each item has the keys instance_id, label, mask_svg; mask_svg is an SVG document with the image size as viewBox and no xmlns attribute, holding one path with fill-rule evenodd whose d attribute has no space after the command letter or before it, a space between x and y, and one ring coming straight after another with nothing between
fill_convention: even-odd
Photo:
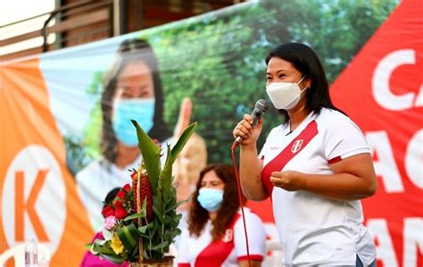
<instances>
[{"instance_id":1,"label":"red banner section with large white letters behind the standing woman","mask_svg":"<svg viewBox=\"0 0 423 267\"><path fill-rule=\"evenodd\" d=\"M378 190L363 204L378 266L423 265L422 13L400 4L331 87L374 157Z\"/></svg>"}]
</instances>

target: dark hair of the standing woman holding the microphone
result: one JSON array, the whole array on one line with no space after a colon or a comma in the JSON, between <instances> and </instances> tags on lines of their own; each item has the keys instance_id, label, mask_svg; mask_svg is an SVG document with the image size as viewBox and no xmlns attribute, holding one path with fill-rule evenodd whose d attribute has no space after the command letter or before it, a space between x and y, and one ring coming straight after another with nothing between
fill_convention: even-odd
<instances>
[{"instance_id":1,"label":"dark hair of the standing woman holding the microphone","mask_svg":"<svg viewBox=\"0 0 423 267\"><path fill-rule=\"evenodd\" d=\"M294 65L294 68L300 71L303 76L311 79L311 87L305 91L305 107L309 112L319 115L323 107L344 113L332 103L329 96L328 79L326 78L323 65L320 63L319 56L311 47L299 43L286 43L277 46L266 57L266 65L269 64L272 57L278 57ZM284 115L285 123L289 121L286 110L279 110Z\"/></svg>"}]
</instances>

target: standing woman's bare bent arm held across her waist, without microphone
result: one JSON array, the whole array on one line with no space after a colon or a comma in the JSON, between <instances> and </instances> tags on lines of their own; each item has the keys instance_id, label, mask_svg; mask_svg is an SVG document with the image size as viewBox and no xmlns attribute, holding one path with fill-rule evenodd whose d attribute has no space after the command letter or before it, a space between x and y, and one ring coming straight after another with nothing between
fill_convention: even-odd
<instances>
[{"instance_id":1,"label":"standing woman's bare bent arm held across her waist, without microphone","mask_svg":"<svg viewBox=\"0 0 423 267\"><path fill-rule=\"evenodd\" d=\"M275 171L270 177L275 187L287 191L305 190L336 200L355 200L375 194L377 179L370 154L356 154L330 165L335 174L306 174Z\"/></svg>"}]
</instances>

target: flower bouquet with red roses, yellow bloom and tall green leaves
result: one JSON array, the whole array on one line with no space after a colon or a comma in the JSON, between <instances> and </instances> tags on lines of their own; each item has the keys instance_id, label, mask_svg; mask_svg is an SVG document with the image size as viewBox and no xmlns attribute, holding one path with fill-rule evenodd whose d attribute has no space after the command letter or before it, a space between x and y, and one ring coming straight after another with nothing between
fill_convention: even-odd
<instances>
[{"instance_id":1,"label":"flower bouquet with red roses, yellow bloom and tall green leaves","mask_svg":"<svg viewBox=\"0 0 423 267\"><path fill-rule=\"evenodd\" d=\"M172 149L167 145L166 161L161 167L162 146L149 138L137 121L138 146L143 159L131 174L132 185L125 185L111 203L104 206L104 240L95 239L87 247L92 254L112 263L130 266L172 266L166 257L170 244L180 234L176 188L172 164L196 128L196 122L184 130Z\"/></svg>"}]
</instances>

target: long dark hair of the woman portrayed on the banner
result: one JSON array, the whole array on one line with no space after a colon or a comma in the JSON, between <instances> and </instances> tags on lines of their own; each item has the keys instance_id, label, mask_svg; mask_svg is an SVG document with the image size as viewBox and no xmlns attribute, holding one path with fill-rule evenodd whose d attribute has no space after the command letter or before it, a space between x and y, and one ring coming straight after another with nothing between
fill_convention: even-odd
<instances>
[{"instance_id":1,"label":"long dark hair of the woman portrayed on the banner","mask_svg":"<svg viewBox=\"0 0 423 267\"><path fill-rule=\"evenodd\" d=\"M170 138L170 131L163 121L163 93L162 82L160 79L156 56L151 46L142 39L129 39L120 44L112 68L106 72L104 77L104 92L101 99L101 108L103 113L103 128L101 147L104 158L109 163L114 163L117 156L117 138L112 128L112 103L113 96L116 94L116 84L120 71L129 63L143 62L147 65L153 75L154 88L154 116L153 128L148 132L150 138L163 141ZM135 130L135 128L134 128Z\"/></svg>"}]
</instances>

